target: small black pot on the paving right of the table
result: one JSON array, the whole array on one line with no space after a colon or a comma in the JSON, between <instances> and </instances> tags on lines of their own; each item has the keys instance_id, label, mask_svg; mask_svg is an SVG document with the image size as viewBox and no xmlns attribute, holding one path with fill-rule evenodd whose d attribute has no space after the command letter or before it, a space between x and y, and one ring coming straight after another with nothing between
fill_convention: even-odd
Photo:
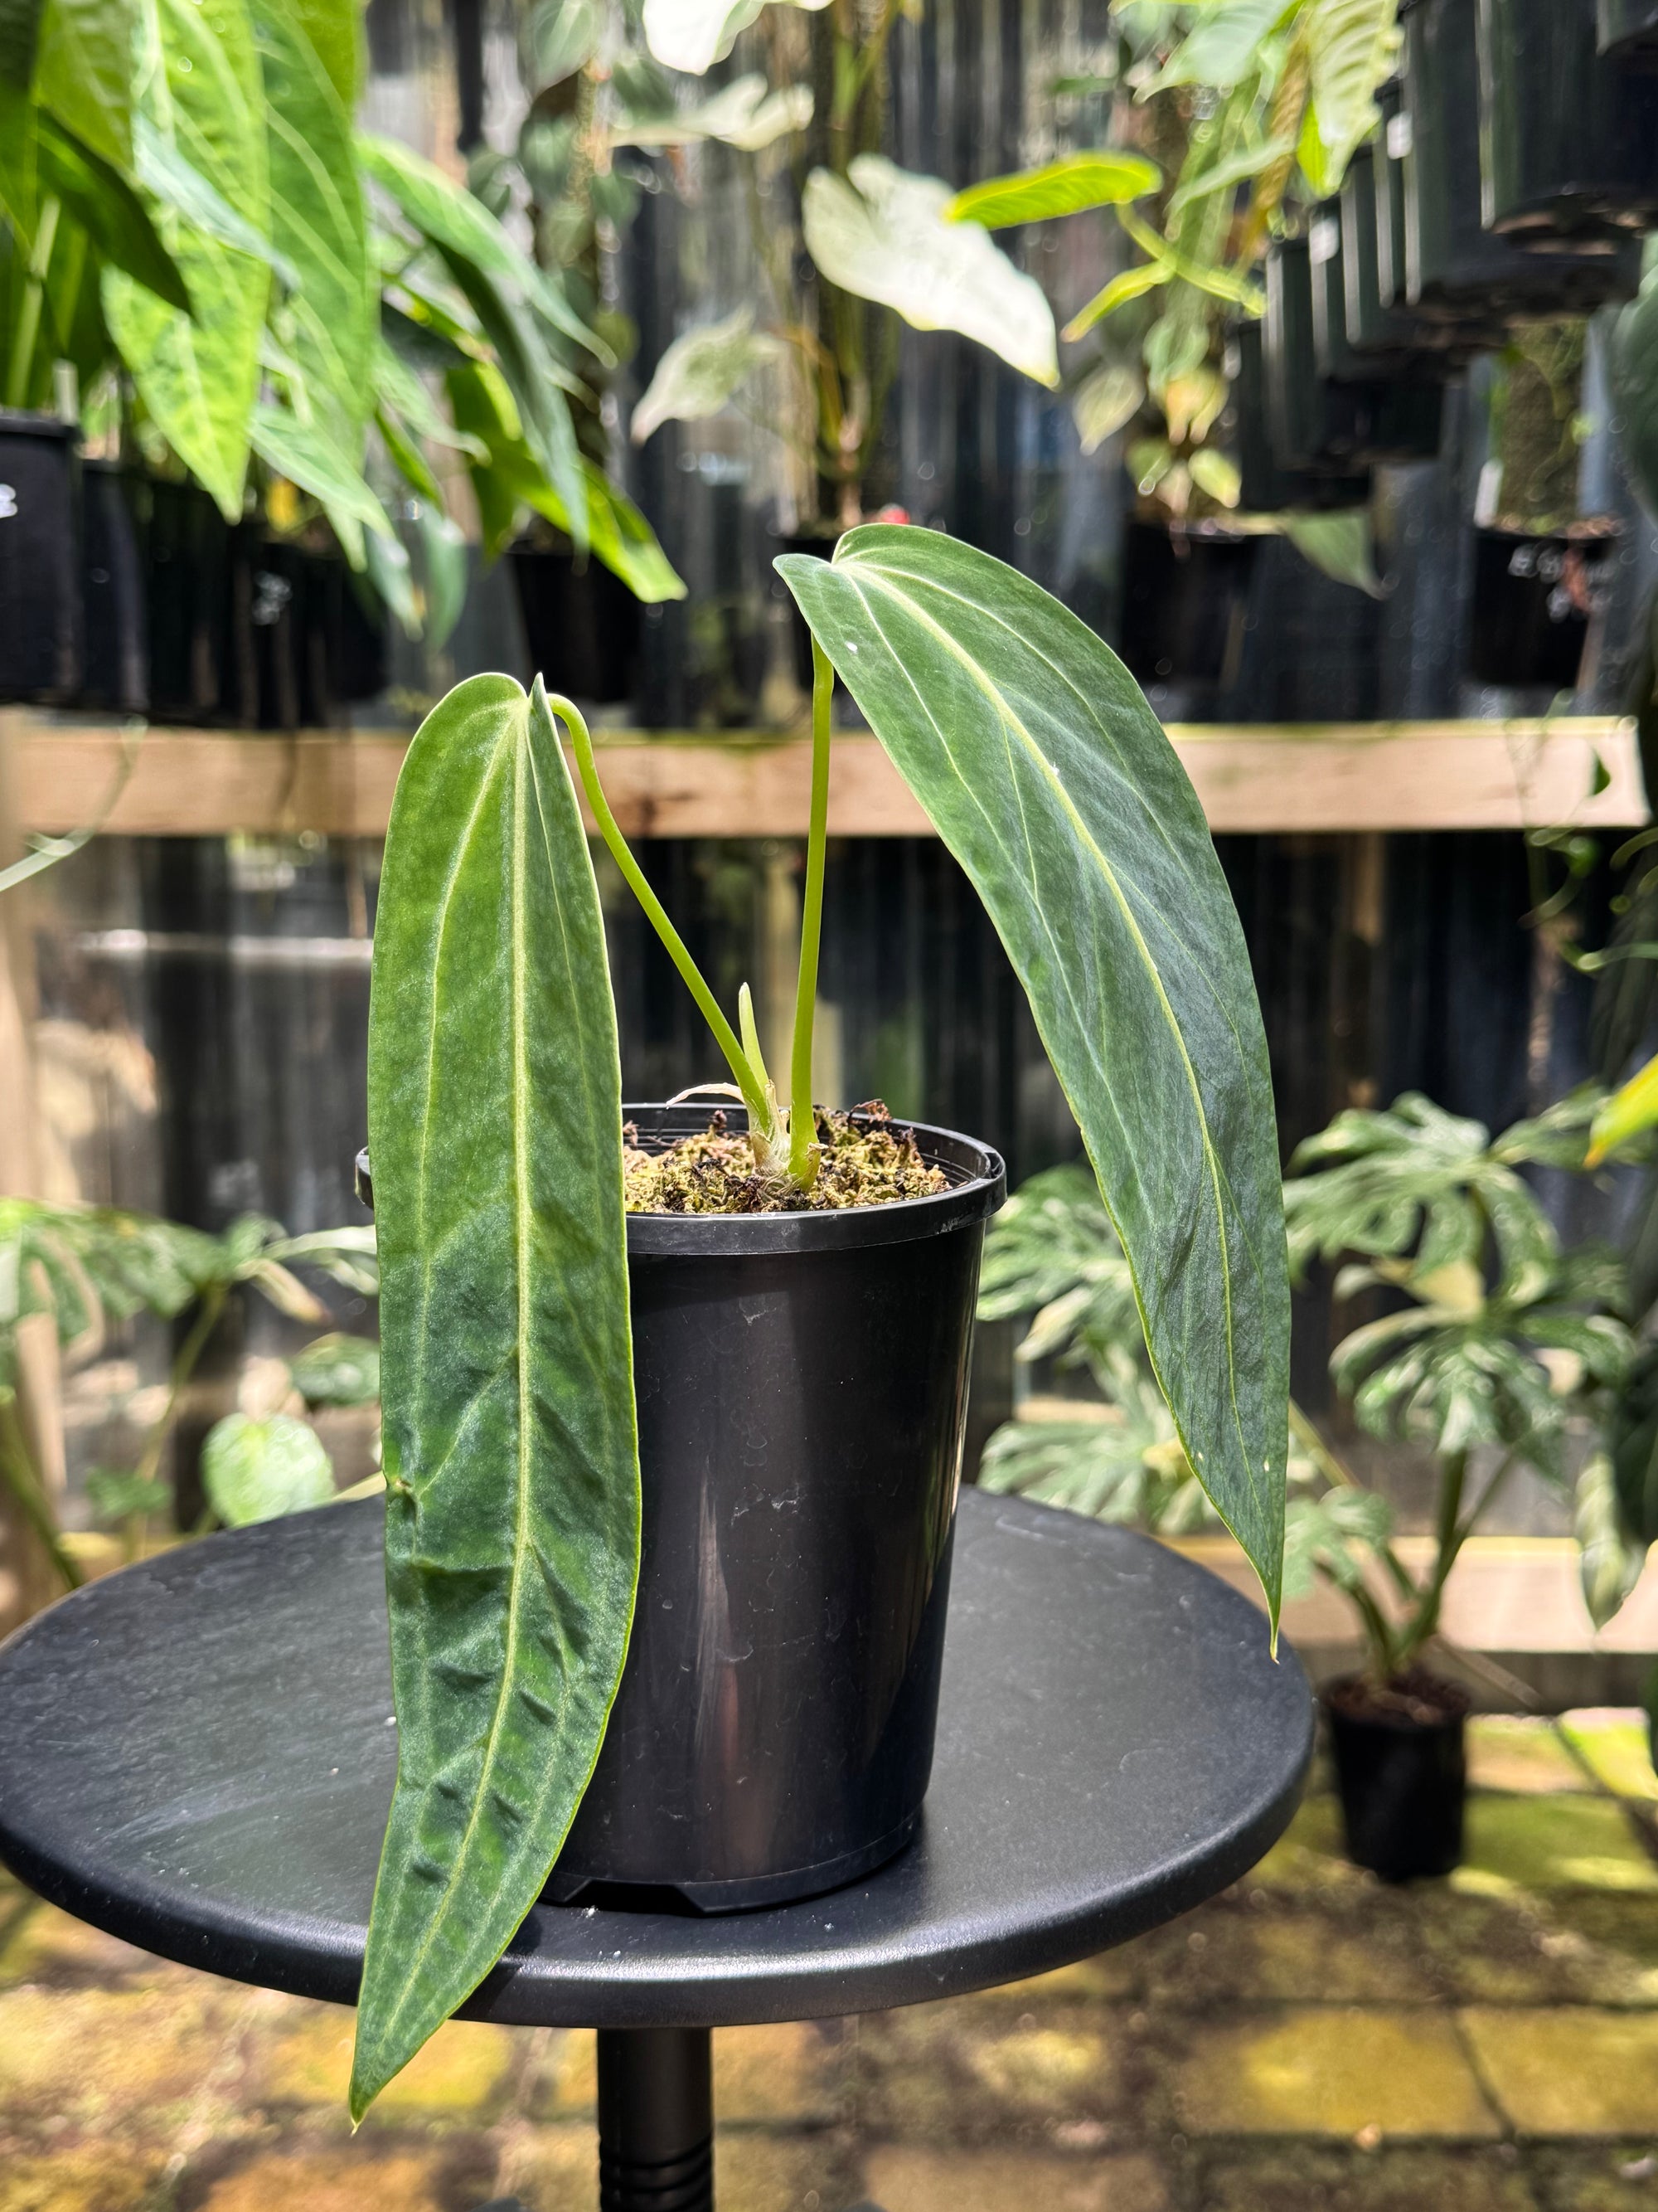
<instances>
[{"instance_id":1,"label":"small black pot on the paving right of the table","mask_svg":"<svg viewBox=\"0 0 1658 2212\"><path fill-rule=\"evenodd\" d=\"M1342 1794L1346 1856L1384 1882L1450 1874L1461 1860L1468 1798L1463 1712L1437 1719L1344 1710L1349 1683L1331 1683L1320 1703L1331 1732Z\"/></svg>"}]
</instances>

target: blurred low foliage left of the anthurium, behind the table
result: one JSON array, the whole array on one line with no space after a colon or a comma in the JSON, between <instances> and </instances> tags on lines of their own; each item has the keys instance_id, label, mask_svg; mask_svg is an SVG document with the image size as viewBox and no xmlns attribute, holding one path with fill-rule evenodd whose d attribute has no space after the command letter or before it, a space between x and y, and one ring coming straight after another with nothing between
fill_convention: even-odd
<instances>
[{"instance_id":1,"label":"blurred low foliage left of the anthurium, behind the table","mask_svg":"<svg viewBox=\"0 0 1658 2212\"><path fill-rule=\"evenodd\" d=\"M371 1228L287 1237L279 1223L243 1214L219 1237L115 1208L0 1199L0 1482L11 1491L69 1588L80 1571L64 1548L51 1498L18 1418L20 1329L49 1318L71 1358L88 1358L111 1321L153 1314L183 1323L159 1413L133 1467L97 1467L86 1478L93 1515L122 1524L137 1551L144 1524L172 1506L161 1460L201 1354L232 1292L256 1290L290 1321L327 1321L327 1307L296 1267L316 1267L354 1290L378 1294ZM378 1396L378 1345L329 1332L290 1360L307 1407L365 1405ZM298 1444L301 1429L309 1440ZM323 1478L327 1486L323 1489ZM228 1416L203 1444L203 1482L225 1524L267 1520L334 1495L334 1473L316 1431L290 1416L250 1422Z\"/></svg>"}]
</instances>

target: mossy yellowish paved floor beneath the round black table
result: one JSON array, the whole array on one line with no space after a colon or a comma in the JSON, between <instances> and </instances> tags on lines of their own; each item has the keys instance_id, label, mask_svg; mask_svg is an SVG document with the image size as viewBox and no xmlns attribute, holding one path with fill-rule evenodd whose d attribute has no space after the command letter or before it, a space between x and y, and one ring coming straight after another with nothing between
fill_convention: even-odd
<instances>
[{"instance_id":1,"label":"mossy yellowish paved floor beneath the round black table","mask_svg":"<svg viewBox=\"0 0 1658 2212\"><path fill-rule=\"evenodd\" d=\"M1123 1951L716 2035L721 2212L1658 2212L1645 1736L1472 1752L1448 1882L1355 1874L1315 1787ZM590 2035L449 2026L356 2137L349 2035L0 1891L0 2212L592 2212Z\"/></svg>"}]
</instances>

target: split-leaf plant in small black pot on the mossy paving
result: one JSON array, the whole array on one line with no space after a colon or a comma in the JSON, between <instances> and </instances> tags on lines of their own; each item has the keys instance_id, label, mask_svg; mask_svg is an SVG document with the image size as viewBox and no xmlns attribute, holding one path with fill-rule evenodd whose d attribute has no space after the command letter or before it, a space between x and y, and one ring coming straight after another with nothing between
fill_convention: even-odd
<instances>
[{"instance_id":1,"label":"split-leaf plant in small black pot on the mossy paving","mask_svg":"<svg viewBox=\"0 0 1658 2212\"><path fill-rule=\"evenodd\" d=\"M1291 1540L1364 1626L1364 1670L1329 1683L1322 1703L1349 1854L1388 1880L1448 1874L1461 1856L1468 1697L1426 1661L1457 1555L1510 1475L1523 1467L1574 1495L1596 1626L1645 1557L1618 1537L1605 1453L1585 1449L1634 1356L1623 1265L1601 1245L1561 1250L1519 1172L1583 1168L1592 1104L1570 1099L1492 1144L1477 1121L1406 1095L1384 1113L1337 1115L1284 1183L1295 1270L1346 1259L1337 1298L1406 1301L1346 1336L1331 1376L1360 1427L1426 1444L1437 1469L1424 1573L1402 1564L1384 1526L1355 1526L1342 1491L1302 1509Z\"/></svg>"}]
</instances>

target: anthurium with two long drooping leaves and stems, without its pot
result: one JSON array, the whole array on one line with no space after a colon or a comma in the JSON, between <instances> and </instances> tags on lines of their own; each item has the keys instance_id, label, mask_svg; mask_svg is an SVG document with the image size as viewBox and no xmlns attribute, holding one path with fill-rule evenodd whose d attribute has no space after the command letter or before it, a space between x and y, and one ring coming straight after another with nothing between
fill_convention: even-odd
<instances>
[{"instance_id":1,"label":"anthurium with two long drooping leaves and stems, without its pot","mask_svg":"<svg viewBox=\"0 0 1658 2212\"><path fill-rule=\"evenodd\" d=\"M639 1447L621 1071L577 781L707 1015L758 1164L807 1203L840 677L1008 947L1174 1429L1278 1606L1289 1274L1271 1084L1242 931L1174 748L1092 630L964 544L875 524L833 562L778 566L816 641L787 1095L747 993L732 1022L650 894L566 699L473 677L416 734L398 783L369 1148L400 1759L354 2112L539 1896L628 1650Z\"/></svg>"}]
</instances>

